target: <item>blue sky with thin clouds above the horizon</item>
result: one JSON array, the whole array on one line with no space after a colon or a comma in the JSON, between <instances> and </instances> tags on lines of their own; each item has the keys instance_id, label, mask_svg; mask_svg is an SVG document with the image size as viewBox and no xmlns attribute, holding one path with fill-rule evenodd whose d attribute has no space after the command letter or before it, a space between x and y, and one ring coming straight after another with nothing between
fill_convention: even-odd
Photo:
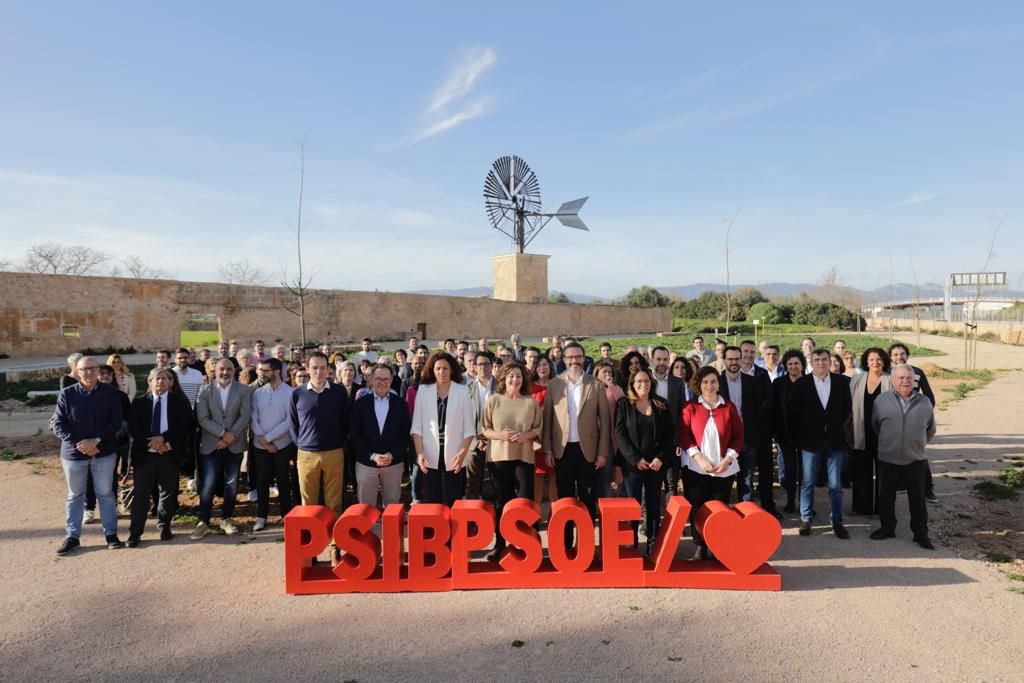
<instances>
[{"instance_id":1,"label":"blue sky with thin clouds above the horizon","mask_svg":"<svg viewBox=\"0 0 1024 683\"><path fill-rule=\"evenodd\" d=\"M707 5L714 4L714 7ZM523 157L554 290L1024 276L1024 5L0 3L2 258L67 241L212 280L489 285Z\"/></svg>"}]
</instances>

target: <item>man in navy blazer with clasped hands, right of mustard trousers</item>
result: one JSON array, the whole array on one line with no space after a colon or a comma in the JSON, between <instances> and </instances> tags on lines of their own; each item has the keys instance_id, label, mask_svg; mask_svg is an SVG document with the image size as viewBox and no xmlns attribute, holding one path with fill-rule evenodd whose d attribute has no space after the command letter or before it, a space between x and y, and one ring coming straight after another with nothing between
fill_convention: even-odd
<instances>
[{"instance_id":1,"label":"man in navy blazer with clasped hands, right of mustard trousers","mask_svg":"<svg viewBox=\"0 0 1024 683\"><path fill-rule=\"evenodd\" d=\"M348 435L355 451L355 481L359 503L381 506L401 499L401 473L412 421L406 401L391 392L391 368L378 364L373 391L355 401Z\"/></svg>"}]
</instances>

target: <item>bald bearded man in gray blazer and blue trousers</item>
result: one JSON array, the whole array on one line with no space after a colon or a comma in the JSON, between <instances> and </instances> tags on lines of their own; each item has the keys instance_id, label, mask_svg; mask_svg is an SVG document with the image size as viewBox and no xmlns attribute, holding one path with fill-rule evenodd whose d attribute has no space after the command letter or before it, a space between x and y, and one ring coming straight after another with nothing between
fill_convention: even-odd
<instances>
[{"instance_id":1,"label":"bald bearded man in gray blazer and blue trousers","mask_svg":"<svg viewBox=\"0 0 1024 683\"><path fill-rule=\"evenodd\" d=\"M234 512L234 497L239 493L242 454L248 440L252 392L248 386L234 381L234 366L227 358L218 360L214 372L216 382L204 385L196 399L196 417L202 429L199 443L202 484L199 524L189 537L193 541L200 541L210 532L214 487L221 476L224 480L224 500L220 528L228 535L239 532L231 513Z\"/></svg>"}]
</instances>

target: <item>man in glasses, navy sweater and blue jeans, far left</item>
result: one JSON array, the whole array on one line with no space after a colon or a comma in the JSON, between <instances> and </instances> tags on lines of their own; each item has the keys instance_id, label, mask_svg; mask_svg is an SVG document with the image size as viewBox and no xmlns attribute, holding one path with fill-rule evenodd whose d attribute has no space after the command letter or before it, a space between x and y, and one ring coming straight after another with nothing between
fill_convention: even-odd
<instances>
[{"instance_id":1,"label":"man in glasses, navy sweater and blue jeans, far left","mask_svg":"<svg viewBox=\"0 0 1024 683\"><path fill-rule=\"evenodd\" d=\"M90 473L106 547L123 546L118 539L114 496L117 433L123 419L121 398L113 385L99 381L99 365L89 356L79 358L75 369L79 382L60 392L53 415L53 433L60 439L60 464L68 480L67 536L57 548L57 555L67 555L81 545L85 488Z\"/></svg>"}]
</instances>

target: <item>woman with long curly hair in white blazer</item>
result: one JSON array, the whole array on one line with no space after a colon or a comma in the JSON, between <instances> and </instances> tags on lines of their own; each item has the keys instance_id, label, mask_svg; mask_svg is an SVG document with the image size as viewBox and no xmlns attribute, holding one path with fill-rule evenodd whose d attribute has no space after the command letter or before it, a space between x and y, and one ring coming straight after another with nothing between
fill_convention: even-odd
<instances>
[{"instance_id":1,"label":"woman with long curly hair in white blazer","mask_svg":"<svg viewBox=\"0 0 1024 683\"><path fill-rule=\"evenodd\" d=\"M466 487L463 464L476 436L476 421L469 389L462 384L462 369L444 351L427 359L411 433L416 464L424 475L417 500L451 507Z\"/></svg>"}]
</instances>

